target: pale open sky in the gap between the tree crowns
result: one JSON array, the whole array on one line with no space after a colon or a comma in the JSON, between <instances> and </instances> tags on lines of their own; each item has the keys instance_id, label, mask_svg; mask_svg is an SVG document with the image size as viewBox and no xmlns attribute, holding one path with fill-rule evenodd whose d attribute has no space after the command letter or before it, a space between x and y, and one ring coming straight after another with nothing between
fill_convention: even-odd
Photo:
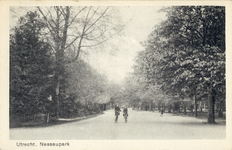
<instances>
[{"instance_id":1,"label":"pale open sky in the gap between the tree crowns","mask_svg":"<svg viewBox=\"0 0 232 150\"><path fill-rule=\"evenodd\" d=\"M134 60L139 51L144 50L140 42L147 39L153 27L165 19L164 13L157 11L162 7L119 7L120 17L127 22L123 35L111 39L118 45L113 54L91 52L88 61L95 69L105 74L109 81L121 83L132 72ZM109 50L110 51L110 50Z\"/></svg>"}]
</instances>

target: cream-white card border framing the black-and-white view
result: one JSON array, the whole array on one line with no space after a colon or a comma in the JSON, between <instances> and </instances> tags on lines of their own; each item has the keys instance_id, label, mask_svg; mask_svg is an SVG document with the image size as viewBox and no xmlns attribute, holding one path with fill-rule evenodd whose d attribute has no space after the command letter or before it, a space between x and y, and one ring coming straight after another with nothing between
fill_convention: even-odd
<instances>
[{"instance_id":1,"label":"cream-white card border framing the black-and-white view","mask_svg":"<svg viewBox=\"0 0 232 150\"><path fill-rule=\"evenodd\" d=\"M43 149L112 149L112 150L186 150L186 149L209 149L209 150L231 150L231 106L232 73L231 61L231 35L232 31L232 2L231 1L1 1L0 2L0 149L41 149L41 147L16 147L16 142L42 142L9 140L9 7L10 6L48 6L48 5L101 5L101 6L167 6L167 5L219 5L226 6L226 139L225 140L68 140L70 147L44 147ZM132 129L133 130L133 129ZM46 140L46 142L49 142ZM67 142L64 140L52 140L51 142Z\"/></svg>"}]
</instances>

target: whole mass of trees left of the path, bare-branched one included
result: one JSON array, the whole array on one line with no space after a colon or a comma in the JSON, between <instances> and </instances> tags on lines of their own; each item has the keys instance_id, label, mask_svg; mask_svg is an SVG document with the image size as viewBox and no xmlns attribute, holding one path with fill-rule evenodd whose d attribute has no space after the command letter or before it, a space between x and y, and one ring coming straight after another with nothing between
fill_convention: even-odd
<instances>
[{"instance_id":1,"label":"whole mass of trees left of the path, bare-branched one included","mask_svg":"<svg viewBox=\"0 0 232 150\"><path fill-rule=\"evenodd\" d=\"M122 28L114 25L108 7L36 9L21 17L10 35L10 116L46 113L49 121L51 114L58 119L89 110L86 105L107 94L107 80L80 53Z\"/></svg>"}]
</instances>

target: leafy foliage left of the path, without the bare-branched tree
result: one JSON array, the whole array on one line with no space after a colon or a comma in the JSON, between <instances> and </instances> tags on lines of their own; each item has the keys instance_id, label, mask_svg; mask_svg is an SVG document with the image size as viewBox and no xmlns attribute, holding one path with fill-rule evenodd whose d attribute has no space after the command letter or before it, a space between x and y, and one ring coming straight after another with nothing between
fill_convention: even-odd
<instances>
[{"instance_id":1,"label":"leafy foliage left of the path, without the bare-branched tree","mask_svg":"<svg viewBox=\"0 0 232 150\"><path fill-rule=\"evenodd\" d=\"M80 115L78 111L87 110L87 105L99 103L101 95L107 98L106 77L85 61L66 63L70 51L65 51L57 64L60 51L54 53L54 43L49 41L47 32L44 19L37 12L28 12L19 19L19 25L10 36L11 116L46 113L49 118L59 109L62 117L73 117Z\"/></svg>"}]
</instances>

